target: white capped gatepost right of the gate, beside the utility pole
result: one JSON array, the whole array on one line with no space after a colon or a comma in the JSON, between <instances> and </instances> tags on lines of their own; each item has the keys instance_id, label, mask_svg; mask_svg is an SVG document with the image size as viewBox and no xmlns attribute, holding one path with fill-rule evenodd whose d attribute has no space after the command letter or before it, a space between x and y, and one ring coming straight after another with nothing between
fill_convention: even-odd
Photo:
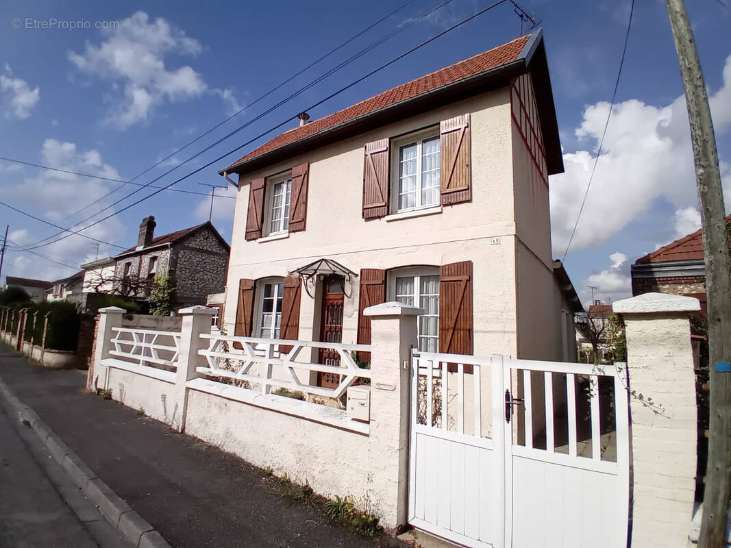
<instances>
[{"instance_id":1,"label":"white capped gatepost right of the gate, beside the utility pole","mask_svg":"<svg viewBox=\"0 0 731 548\"><path fill-rule=\"evenodd\" d=\"M686 547L698 435L690 313L700 302L646 293L613 308L627 341L632 546Z\"/></svg>"}]
</instances>

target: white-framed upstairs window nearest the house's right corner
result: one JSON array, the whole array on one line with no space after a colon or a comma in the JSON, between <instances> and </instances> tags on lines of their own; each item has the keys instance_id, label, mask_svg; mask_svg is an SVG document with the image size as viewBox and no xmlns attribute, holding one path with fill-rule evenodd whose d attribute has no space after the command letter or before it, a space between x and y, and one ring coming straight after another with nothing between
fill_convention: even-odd
<instances>
[{"instance_id":1,"label":"white-framed upstairs window nearest the house's right corner","mask_svg":"<svg viewBox=\"0 0 731 548\"><path fill-rule=\"evenodd\" d=\"M439 205L442 144L438 129L394 141L392 209L396 212Z\"/></svg>"}]
</instances>

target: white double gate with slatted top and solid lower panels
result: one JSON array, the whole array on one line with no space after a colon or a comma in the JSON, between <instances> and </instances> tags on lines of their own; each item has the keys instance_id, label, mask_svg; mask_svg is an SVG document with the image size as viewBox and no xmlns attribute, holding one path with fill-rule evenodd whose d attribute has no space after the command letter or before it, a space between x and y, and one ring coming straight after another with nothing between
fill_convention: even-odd
<instances>
[{"instance_id":1,"label":"white double gate with slatted top and solid lower panels","mask_svg":"<svg viewBox=\"0 0 731 548\"><path fill-rule=\"evenodd\" d=\"M414 351L409 522L469 547L626 547L625 379Z\"/></svg>"}]
</instances>

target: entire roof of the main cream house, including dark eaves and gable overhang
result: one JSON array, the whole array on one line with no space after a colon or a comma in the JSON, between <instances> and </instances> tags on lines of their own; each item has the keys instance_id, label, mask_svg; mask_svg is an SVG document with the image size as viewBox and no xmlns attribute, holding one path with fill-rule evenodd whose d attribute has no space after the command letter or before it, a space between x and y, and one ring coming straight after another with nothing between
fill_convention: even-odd
<instances>
[{"instance_id":1,"label":"entire roof of the main cream house, including dark eaves and gable overhang","mask_svg":"<svg viewBox=\"0 0 731 548\"><path fill-rule=\"evenodd\" d=\"M344 110L290 129L235 161L221 175L253 170L273 161L294 156L343 138L366 132L427 109L484 93L488 83L506 85L507 80L531 72L546 148L548 173L564 171L558 123L550 88L548 64L540 30L494 47L444 69L398 85Z\"/></svg>"}]
</instances>

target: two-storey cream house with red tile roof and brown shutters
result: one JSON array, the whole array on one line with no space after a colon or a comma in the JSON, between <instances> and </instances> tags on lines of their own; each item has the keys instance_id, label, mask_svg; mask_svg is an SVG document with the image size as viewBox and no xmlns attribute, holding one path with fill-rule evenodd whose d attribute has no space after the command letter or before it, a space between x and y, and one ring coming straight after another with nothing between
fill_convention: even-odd
<instances>
[{"instance_id":1,"label":"two-storey cream house with red tile roof and brown shutters","mask_svg":"<svg viewBox=\"0 0 731 548\"><path fill-rule=\"evenodd\" d=\"M369 343L364 309L396 300L424 309L422 351L574 360L581 305L550 241L563 170L540 31L303 113L219 172L238 190L224 326Z\"/></svg>"}]
</instances>

